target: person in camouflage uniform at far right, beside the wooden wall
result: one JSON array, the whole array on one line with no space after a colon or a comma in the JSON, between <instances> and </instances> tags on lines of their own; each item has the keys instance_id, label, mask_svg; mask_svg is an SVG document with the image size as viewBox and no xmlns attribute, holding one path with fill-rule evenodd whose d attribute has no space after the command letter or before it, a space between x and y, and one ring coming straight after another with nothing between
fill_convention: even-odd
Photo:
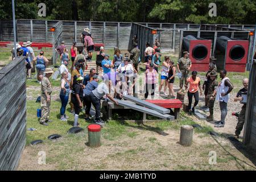
<instances>
[{"instance_id":1,"label":"person in camouflage uniform at far right, beside the wooden wall","mask_svg":"<svg viewBox=\"0 0 256 182\"><path fill-rule=\"evenodd\" d=\"M240 115L238 117L238 123L237 123L237 127L236 127L236 132L235 132L236 138L239 138L239 135L243 129L243 124L245 123L245 113L246 113L246 104L245 103L246 103L246 101L243 101L242 95L247 95L248 84L249 84L249 79L244 78L243 79L244 88L239 90L239 92L237 93L237 97L234 98L235 102L240 101L241 104L243 103L242 110L240 111Z\"/></svg>"}]
</instances>

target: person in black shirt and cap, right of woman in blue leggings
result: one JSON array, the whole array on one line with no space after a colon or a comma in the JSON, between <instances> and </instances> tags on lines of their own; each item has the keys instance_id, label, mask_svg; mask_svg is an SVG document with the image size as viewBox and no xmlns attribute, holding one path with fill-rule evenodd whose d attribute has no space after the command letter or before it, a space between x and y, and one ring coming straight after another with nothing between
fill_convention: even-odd
<instances>
[{"instance_id":1,"label":"person in black shirt and cap, right of woman in blue leggings","mask_svg":"<svg viewBox=\"0 0 256 182\"><path fill-rule=\"evenodd\" d=\"M82 87L82 80L84 80L81 76L75 76L74 82L72 85L72 93L71 93L71 102L74 105L75 109L75 119L73 123L73 127L76 127L79 125L79 113L82 108L82 101L84 99L84 92Z\"/></svg>"}]
</instances>

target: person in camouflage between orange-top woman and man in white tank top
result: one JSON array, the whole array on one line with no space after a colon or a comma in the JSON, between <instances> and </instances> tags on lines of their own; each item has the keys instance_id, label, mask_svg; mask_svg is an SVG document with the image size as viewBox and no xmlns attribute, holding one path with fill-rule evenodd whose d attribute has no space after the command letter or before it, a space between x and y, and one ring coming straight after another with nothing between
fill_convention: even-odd
<instances>
[{"instance_id":1,"label":"person in camouflage between orange-top woman and man in white tank top","mask_svg":"<svg viewBox=\"0 0 256 182\"><path fill-rule=\"evenodd\" d=\"M207 94L207 100L209 101L208 107L209 107L210 115L207 117L207 121L213 121L213 107L214 107L214 102L215 102L217 88L218 88L216 71L213 70L212 72L210 72L209 76L210 76L210 83L209 83L209 89Z\"/></svg>"}]
</instances>

